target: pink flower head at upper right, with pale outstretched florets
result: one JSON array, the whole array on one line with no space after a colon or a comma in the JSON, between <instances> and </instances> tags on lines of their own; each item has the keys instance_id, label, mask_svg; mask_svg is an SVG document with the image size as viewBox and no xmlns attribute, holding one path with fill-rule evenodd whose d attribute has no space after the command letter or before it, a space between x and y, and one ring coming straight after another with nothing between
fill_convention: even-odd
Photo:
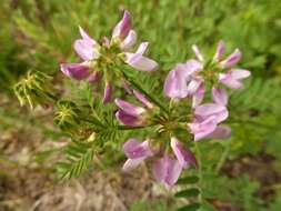
<instances>
[{"instance_id":1,"label":"pink flower head at upper right, with pale outstretched florets","mask_svg":"<svg viewBox=\"0 0 281 211\"><path fill-rule=\"evenodd\" d=\"M187 63L179 63L172 69L164 82L164 94L169 98L179 99L192 97L192 108L199 105L204 97L204 79L211 77L213 81L219 81L232 89L242 88L241 80L249 77L247 70L231 69L227 73L218 73L214 70L209 70L213 66L219 69L232 68L241 58L241 52L237 49L227 59L222 60L224 52L224 43L218 43L215 53L211 61L211 67L205 67L205 61L198 46L193 44L192 50L197 60L188 60ZM225 104L224 104L225 105Z\"/></svg>"}]
</instances>

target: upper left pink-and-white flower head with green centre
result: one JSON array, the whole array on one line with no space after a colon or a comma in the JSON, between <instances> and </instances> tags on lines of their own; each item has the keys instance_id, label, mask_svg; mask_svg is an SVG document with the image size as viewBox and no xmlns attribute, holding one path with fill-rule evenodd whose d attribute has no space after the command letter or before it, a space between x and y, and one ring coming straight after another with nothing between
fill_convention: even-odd
<instances>
[{"instance_id":1,"label":"upper left pink-and-white flower head with green centre","mask_svg":"<svg viewBox=\"0 0 281 211\"><path fill-rule=\"evenodd\" d=\"M130 52L137 42L137 32L131 28L131 16L128 11L124 11L123 18L114 27L111 39L104 37L101 43L79 27L82 39L76 40L73 47L82 62L61 63L61 71L72 79L88 80L91 83L104 76L103 103L109 102L112 81L120 78L118 72L113 72L113 66L119 60L140 71L153 71L158 68L154 60L143 56L148 42L142 42L136 52Z\"/></svg>"}]
</instances>

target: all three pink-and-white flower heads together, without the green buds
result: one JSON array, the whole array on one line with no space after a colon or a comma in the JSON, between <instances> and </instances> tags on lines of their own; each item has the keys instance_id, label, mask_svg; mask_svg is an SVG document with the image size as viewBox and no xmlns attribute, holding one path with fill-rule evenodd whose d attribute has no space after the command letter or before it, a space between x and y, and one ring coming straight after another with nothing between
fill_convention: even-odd
<instances>
[{"instance_id":1,"label":"all three pink-and-white flower heads together, without the green buds","mask_svg":"<svg viewBox=\"0 0 281 211\"><path fill-rule=\"evenodd\" d=\"M168 73L164 81L163 93L170 98L170 105L164 109L151 100L151 96L136 88L116 68L118 61L129 64L141 71L155 70L158 63L143 56L148 42L142 42L136 52L130 52L137 41L137 33L131 29L131 17L124 11L123 18L114 27L112 37L104 38L101 43L89 37L80 28L82 39L76 40L74 50L82 59L80 63L62 63L61 71L77 80L88 80L90 83L99 81L103 76L106 89L103 91L103 103L111 99L114 79L123 81L128 93L132 94L142 105L137 105L124 99L114 100L118 111L117 120L134 130L137 127L157 127L155 132L164 135L147 138L143 142L132 138L123 144L123 151L128 160L123 170L128 171L139 165L145 159L152 161L154 178L167 188L172 187L183 169L189 165L198 167L197 159L187 147L185 141L177 138L175 129L184 129L193 135L193 140L203 138L227 139L231 129L221 125L229 117L228 93L223 86L230 89L241 89L242 79L250 76L248 70L237 69L235 64L241 58L237 49L227 58L222 58L224 43L219 42L212 59L205 59L197 46L192 49L197 59L190 59L184 63L177 63ZM114 70L114 71L113 71ZM211 84L211 89L208 90ZM212 102L203 102L204 96L211 93ZM149 98L148 98L149 97ZM178 109L181 99L192 100L187 113ZM182 121L182 117L184 120Z\"/></svg>"}]
</instances>

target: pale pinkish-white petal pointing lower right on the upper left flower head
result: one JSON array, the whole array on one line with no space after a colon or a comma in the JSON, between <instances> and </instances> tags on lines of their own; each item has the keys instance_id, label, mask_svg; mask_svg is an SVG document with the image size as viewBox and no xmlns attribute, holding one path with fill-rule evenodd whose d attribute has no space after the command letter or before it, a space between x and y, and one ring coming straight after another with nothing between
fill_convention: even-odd
<instances>
[{"instance_id":1,"label":"pale pinkish-white petal pointing lower right on the upper left flower head","mask_svg":"<svg viewBox=\"0 0 281 211\"><path fill-rule=\"evenodd\" d=\"M158 63L154 60L140 53L126 53L126 62L141 71L153 71L158 68Z\"/></svg>"}]
</instances>

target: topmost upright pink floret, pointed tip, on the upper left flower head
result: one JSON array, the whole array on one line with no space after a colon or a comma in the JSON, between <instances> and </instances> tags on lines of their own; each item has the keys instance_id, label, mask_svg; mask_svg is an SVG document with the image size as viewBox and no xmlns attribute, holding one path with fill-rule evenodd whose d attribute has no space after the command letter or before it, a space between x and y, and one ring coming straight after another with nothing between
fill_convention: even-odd
<instances>
[{"instance_id":1,"label":"topmost upright pink floret, pointed tip, on the upper left flower head","mask_svg":"<svg viewBox=\"0 0 281 211\"><path fill-rule=\"evenodd\" d=\"M117 23L113 29L112 37L118 37L119 39L123 40L129 34L131 30L131 14L129 11L124 11L123 18Z\"/></svg>"}]
</instances>

